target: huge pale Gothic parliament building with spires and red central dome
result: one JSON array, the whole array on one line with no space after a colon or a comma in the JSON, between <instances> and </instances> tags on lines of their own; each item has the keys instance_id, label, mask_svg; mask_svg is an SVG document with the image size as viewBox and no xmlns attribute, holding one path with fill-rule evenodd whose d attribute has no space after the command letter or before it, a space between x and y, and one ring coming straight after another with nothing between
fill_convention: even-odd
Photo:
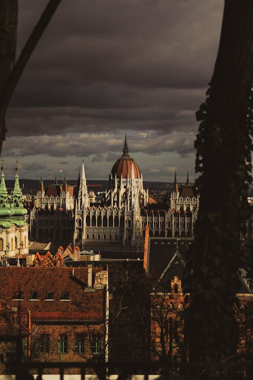
<instances>
[{"instance_id":1,"label":"huge pale Gothic parliament building with spires and red central dome","mask_svg":"<svg viewBox=\"0 0 253 380\"><path fill-rule=\"evenodd\" d=\"M63 183L40 188L27 215L30 240L68 243L81 250L143 252L146 225L154 237L192 237L199 196L189 183L174 187L159 205L143 187L137 163L124 141L123 154L113 165L101 203L89 196L82 162L77 185Z\"/></svg>"}]
</instances>

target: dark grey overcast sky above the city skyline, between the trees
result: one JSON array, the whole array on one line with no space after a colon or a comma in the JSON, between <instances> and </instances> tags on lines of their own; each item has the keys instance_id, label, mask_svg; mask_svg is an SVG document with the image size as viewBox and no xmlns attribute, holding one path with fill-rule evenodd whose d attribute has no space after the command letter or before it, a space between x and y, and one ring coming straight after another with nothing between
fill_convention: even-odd
<instances>
[{"instance_id":1,"label":"dark grey overcast sky above the city skyline, between the trees","mask_svg":"<svg viewBox=\"0 0 253 380\"><path fill-rule=\"evenodd\" d=\"M47 0L19 1L18 49ZM194 180L195 111L213 73L223 0L63 0L7 115L6 177L107 179L122 153L144 180Z\"/></svg>"}]
</instances>

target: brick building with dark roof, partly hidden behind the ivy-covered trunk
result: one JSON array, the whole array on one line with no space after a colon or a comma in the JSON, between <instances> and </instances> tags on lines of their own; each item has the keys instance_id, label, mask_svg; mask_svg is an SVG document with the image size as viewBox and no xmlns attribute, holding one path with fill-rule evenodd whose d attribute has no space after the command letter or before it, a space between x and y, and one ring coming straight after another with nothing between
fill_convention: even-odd
<instances>
[{"instance_id":1,"label":"brick building with dark roof, partly hidden behind the ivy-covered trunk","mask_svg":"<svg viewBox=\"0 0 253 380\"><path fill-rule=\"evenodd\" d=\"M185 311L190 294L184 295L182 281L187 251L193 238L150 238L146 227L144 270L153 282L150 293L151 358L171 363L178 373L184 349ZM249 359L253 353L253 293L238 270L240 286L235 315L239 327L237 352Z\"/></svg>"}]
</instances>

